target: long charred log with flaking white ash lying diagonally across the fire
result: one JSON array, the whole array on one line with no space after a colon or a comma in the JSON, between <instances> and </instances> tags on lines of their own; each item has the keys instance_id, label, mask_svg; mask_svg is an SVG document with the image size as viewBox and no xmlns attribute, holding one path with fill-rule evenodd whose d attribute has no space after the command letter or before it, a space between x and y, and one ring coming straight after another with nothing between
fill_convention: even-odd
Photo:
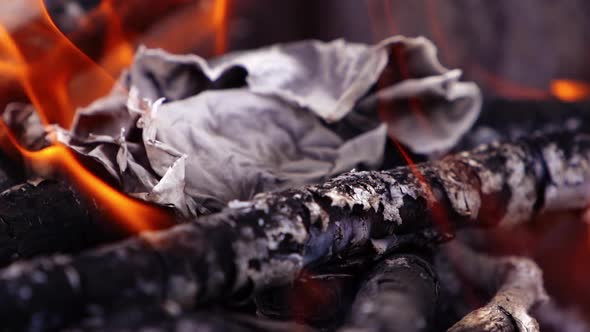
<instances>
[{"instance_id":1,"label":"long charred log with flaking white ash lying diagonally across the fire","mask_svg":"<svg viewBox=\"0 0 590 332\"><path fill-rule=\"evenodd\" d=\"M418 176L417 173L420 173ZM115 299L194 307L285 285L302 268L366 264L454 227L511 225L590 195L590 136L494 144L413 167L349 172L77 257L0 272L0 321L59 325Z\"/></svg>"}]
</instances>

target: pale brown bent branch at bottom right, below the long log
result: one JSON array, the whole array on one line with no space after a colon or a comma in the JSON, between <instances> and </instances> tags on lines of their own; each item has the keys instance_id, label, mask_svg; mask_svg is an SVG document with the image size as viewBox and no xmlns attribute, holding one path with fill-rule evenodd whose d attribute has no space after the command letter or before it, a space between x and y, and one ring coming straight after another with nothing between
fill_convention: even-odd
<instances>
[{"instance_id":1,"label":"pale brown bent branch at bottom right, below the long log","mask_svg":"<svg viewBox=\"0 0 590 332\"><path fill-rule=\"evenodd\" d=\"M455 241L445 245L459 273L476 286L495 293L490 302L455 325L449 332L539 331L528 314L533 305L547 300L541 269L528 258L494 258L477 254Z\"/></svg>"}]
</instances>

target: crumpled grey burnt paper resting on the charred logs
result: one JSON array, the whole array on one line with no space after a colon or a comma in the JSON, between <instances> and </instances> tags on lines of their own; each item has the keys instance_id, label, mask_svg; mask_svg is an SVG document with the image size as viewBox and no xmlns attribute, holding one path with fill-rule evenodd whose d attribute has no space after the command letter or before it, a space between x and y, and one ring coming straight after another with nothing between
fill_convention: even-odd
<instances>
[{"instance_id":1,"label":"crumpled grey burnt paper resting on the charred logs","mask_svg":"<svg viewBox=\"0 0 590 332\"><path fill-rule=\"evenodd\" d=\"M70 130L55 130L123 191L199 215L376 169L388 132L419 153L452 147L481 104L459 76L424 38L304 41L210 61L140 48L124 89L80 110ZM416 100L427 101L419 112ZM341 122L354 130L338 130Z\"/></svg>"}]
</instances>

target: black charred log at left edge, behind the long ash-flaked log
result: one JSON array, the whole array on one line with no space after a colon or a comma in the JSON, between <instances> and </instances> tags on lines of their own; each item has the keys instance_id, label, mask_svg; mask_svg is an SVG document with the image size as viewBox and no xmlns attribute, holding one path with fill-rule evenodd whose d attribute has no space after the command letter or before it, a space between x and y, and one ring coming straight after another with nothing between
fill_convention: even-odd
<instances>
[{"instance_id":1,"label":"black charred log at left edge, behind the long ash-flaked log","mask_svg":"<svg viewBox=\"0 0 590 332\"><path fill-rule=\"evenodd\" d=\"M0 220L0 265L41 254L76 253L130 235L59 181L6 190L0 194Z\"/></svg>"}]
</instances>

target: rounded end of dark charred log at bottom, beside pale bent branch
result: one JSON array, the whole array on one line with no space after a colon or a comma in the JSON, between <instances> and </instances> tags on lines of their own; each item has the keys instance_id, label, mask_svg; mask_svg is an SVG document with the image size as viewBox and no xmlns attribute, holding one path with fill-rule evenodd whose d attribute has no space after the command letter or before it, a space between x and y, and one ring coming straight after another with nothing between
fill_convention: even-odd
<instances>
[{"instance_id":1,"label":"rounded end of dark charred log at bottom, beside pale bent branch","mask_svg":"<svg viewBox=\"0 0 590 332\"><path fill-rule=\"evenodd\" d=\"M437 278L428 262L415 255L393 255L367 274L350 322L340 331L431 331L437 298Z\"/></svg>"}]
</instances>

